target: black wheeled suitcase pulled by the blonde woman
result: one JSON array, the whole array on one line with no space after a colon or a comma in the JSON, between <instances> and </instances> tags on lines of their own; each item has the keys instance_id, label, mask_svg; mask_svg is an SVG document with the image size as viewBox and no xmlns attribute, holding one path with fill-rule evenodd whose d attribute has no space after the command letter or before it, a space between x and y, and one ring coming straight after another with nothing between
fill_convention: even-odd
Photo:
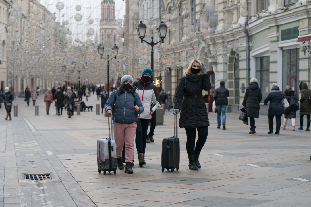
<instances>
[{"instance_id":1,"label":"black wheeled suitcase pulled by the blonde woman","mask_svg":"<svg viewBox=\"0 0 311 207\"><path fill-rule=\"evenodd\" d=\"M174 137L165 138L162 141L161 167L164 169L179 169L179 138L177 135L177 114L174 115Z\"/></svg>"}]
</instances>

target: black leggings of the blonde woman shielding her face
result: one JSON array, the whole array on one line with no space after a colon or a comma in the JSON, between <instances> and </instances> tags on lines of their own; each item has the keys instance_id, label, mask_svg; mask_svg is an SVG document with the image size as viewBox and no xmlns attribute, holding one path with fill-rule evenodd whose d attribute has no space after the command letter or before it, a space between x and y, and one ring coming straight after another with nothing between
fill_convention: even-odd
<instances>
[{"instance_id":1,"label":"black leggings of the blonde woman shielding her face","mask_svg":"<svg viewBox=\"0 0 311 207\"><path fill-rule=\"evenodd\" d=\"M186 149L188 156L194 155L194 151L201 151L208 135L208 127L199 127L197 128L197 144L195 144L196 138L196 128L185 128L187 134L187 142L186 142ZM195 148L194 148L195 145Z\"/></svg>"}]
</instances>

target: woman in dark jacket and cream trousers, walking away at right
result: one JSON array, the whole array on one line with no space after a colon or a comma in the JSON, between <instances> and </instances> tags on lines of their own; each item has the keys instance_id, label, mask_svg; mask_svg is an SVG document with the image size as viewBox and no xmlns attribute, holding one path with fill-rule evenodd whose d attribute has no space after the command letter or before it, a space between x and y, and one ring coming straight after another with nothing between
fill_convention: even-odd
<instances>
[{"instance_id":1,"label":"woman in dark jacket and cream trousers, walking away at right","mask_svg":"<svg viewBox=\"0 0 311 207\"><path fill-rule=\"evenodd\" d=\"M294 96L296 96L295 91L291 90L291 86L286 86L286 89L284 91L284 95L286 97L286 100L288 103L290 103L290 99ZM296 119L296 110L294 109L294 106L290 106L286 109L284 109L284 123L281 125L281 128L285 130L287 120L291 119L292 121L292 131L295 131L295 119Z\"/></svg>"}]
</instances>

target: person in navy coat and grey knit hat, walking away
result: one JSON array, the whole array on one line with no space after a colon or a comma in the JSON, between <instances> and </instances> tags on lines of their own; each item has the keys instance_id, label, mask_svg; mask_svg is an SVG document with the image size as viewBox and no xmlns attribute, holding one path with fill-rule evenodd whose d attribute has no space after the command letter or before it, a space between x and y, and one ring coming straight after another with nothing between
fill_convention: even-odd
<instances>
[{"instance_id":1,"label":"person in navy coat and grey knit hat, walking away","mask_svg":"<svg viewBox=\"0 0 311 207\"><path fill-rule=\"evenodd\" d=\"M271 92L268 94L267 98L264 101L265 105L268 105L270 101L269 109L268 109L268 119L269 119L269 132L268 134L273 133L273 117L276 119L276 132L274 134L280 134L281 127L281 117L284 114L284 107L282 104L283 97L285 97L284 93L280 91L280 88L277 83L272 84Z\"/></svg>"}]
</instances>

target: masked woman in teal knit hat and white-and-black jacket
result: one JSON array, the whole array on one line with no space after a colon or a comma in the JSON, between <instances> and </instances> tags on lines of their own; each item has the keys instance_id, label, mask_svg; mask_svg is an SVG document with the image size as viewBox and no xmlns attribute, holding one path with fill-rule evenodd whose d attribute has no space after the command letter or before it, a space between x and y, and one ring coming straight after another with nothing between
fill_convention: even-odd
<instances>
[{"instance_id":1,"label":"masked woman in teal knit hat and white-and-black jacket","mask_svg":"<svg viewBox=\"0 0 311 207\"><path fill-rule=\"evenodd\" d=\"M158 91L155 84L152 83L153 71L146 68L142 72L142 77L139 81L135 81L133 86L142 100L144 111L138 115L136 128L136 149L138 154L139 166L146 164L145 149L146 149L146 135L150 123L151 115L160 106ZM151 105L151 101L153 104Z\"/></svg>"}]
</instances>

